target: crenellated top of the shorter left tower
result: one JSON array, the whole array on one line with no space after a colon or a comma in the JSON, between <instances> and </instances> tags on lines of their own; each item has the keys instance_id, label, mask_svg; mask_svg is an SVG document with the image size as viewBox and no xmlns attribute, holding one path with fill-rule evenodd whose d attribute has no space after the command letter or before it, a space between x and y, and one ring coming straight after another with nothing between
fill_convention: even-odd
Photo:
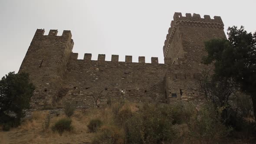
<instances>
[{"instance_id":1,"label":"crenellated top of the shorter left tower","mask_svg":"<svg viewBox=\"0 0 256 144\"><path fill-rule=\"evenodd\" d=\"M61 36L57 36L58 34L58 30L57 29L50 29L48 35L44 35L45 30L44 29L36 29L36 33L34 35L34 37L47 37L47 36L56 36L56 37L68 37L68 38L72 38L72 34L70 30L63 30L62 35Z\"/></svg>"}]
</instances>

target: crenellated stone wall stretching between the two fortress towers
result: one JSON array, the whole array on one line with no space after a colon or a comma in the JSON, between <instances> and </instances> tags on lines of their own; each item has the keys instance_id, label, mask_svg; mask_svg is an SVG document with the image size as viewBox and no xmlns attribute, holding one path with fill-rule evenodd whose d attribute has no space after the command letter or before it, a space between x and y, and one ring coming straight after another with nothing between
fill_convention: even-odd
<instances>
[{"instance_id":1,"label":"crenellated stone wall stretching between the two fortress towers","mask_svg":"<svg viewBox=\"0 0 256 144\"><path fill-rule=\"evenodd\" d=\"M76 54L72 54L76 55ZM86 56L91 56L85 54ZM66 75L59 94L59 104L65 101L75 101L77 106L93 106L93 96L101 93L99 103L106 104L108 99L129 101L166 102L164 93L164 75L170 69L169 65L158 64L157 58L151 63L118 62L117 56L112 61L70 59Z\"/></svg>"}]
</instances>

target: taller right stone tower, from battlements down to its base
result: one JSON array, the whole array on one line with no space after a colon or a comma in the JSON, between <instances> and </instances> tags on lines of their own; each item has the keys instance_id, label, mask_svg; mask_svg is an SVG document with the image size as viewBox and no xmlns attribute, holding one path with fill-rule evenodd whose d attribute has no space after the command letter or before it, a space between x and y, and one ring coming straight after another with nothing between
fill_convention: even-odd
<instances>
[{"instance_id":1,"label":"taller right stone tower, from battlements down to its base","mask_svg":"<svg viewBox=\"0 0 256 144\"><path fill-rule=\"evenodd\" d=\"M224 24L220 16L209 15L201 18L199 14L174 13L171 27L164 41L164 63L172 70L166 73L165 89L167 101L178 98L193 99L200 94L197 89L197 78L203 70L213 70L211 65L201 63L202 56L207 52L204 42L213 38L224 38Z\"/></svg>"}]
</instances>

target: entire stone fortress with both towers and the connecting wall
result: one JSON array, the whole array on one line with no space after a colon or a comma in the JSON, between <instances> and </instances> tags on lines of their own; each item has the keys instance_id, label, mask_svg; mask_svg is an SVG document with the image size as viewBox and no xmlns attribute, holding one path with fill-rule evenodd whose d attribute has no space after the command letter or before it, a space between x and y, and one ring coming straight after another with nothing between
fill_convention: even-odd
<instances>
[{"instance_id":1,"label":"entire stone fortress with both towers and the connecting wall","mask_svg":"<svg viewBox=\"0 0 256 144\"><path fill-rule=\"evenodd\" d=\"M19 70L28 72L36 86L31 107L62 106L71 101L88 108L120 99L153 103L194 100L199 94L191 87L197 87L202 70L210 69L201 64L207 54L204 42L226 39L224 25L220 16L201 18L195 13L174 13L173 19L164 41L164 64L159 64L157 57L145 63L144 56L139 56L138 62L132 62L132 56L119 62L118 55L105 61L104 54L91 60L89 53L77 59L69 30L56 36L57 30L44 35L44 29L37 29Z\"/></svg>"}]
</instances>

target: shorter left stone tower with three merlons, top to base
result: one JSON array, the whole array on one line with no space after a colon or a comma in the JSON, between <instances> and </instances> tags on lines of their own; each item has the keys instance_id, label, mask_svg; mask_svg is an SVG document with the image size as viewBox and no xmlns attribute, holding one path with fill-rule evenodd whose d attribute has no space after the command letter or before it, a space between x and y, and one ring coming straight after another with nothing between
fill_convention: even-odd
<instances>
[{"instance_id":1,"label":"shorter left stone tower with three merlons, top to base","mask_svg":"<svg viewBox=\"0 0 256 144\"><path fill-rule=\"evenodd\" d=\"M74 44L69 30L64 30L62 36L56 36L57 30L50 30L47 36L44 32L36 30L19 70L28 72L36 86L32 108L54 104Z\"/></svg>"}]
</instances>

